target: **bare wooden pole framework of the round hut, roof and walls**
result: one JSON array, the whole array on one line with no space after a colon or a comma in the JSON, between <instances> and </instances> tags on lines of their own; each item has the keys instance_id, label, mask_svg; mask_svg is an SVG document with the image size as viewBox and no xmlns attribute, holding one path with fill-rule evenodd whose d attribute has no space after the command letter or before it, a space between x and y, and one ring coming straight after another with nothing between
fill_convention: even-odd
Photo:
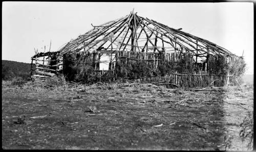
<instances>
[{"instance_id":1,"label":"bare wooden pole framework of the round hut, roof and walls","mask_svg":"<svg viewBox=\"0 0 256 152\"><path fill-rule=\"evenodd\" d=\"M108 70L99 68L100 63L103 62L102 56L108 56L110 59L107 63ZM46 59L39 59L42 57L46 57ZM71 40L57 52L36 54L32 57L32 63L36 61L37 74L33 74L32 78L45 79L52 77L52 73L59 72L67 75L72 69L79 70L78 67L89 65L94 73L104 75L106 72L112 72L117 79L118 75L115 73L118 61L122 62L122 66L128 66L127 62L132 63L130 61L143 61L151 69L150 74L142 75L143 78L152 78L159 77L154 75L158 71L159 65L170 62L177 65L176 62L184 58L187 61L186 66L187 64L193 65L198 70L190 73L179 73L175 69L172 72L166 72L167 75L164 77L168 77L169 82L181 85L182 80L184 81L181 77L186 77L186 80L189 81L198 77L203 81L205 75L211 81L225 79L226 82L229 82L229 77L239 76L237 73L230 73L232 61L243 62L241 57L237 57L215 43L131 12L119 19L93 26L92 30ZM220 72L210 72L215 68L213 65L219 58L225 58L224 62L228 65L224 67L228 72L223 75L223 78ZM76 72L76 74L78 73L81 74L81 69L80 72ZM216 75L219 75L218 78ZM75 76L72 77L72 79L74 78ZM140 77L137 78L140 79Z\"/></svg>"}]
</instances>

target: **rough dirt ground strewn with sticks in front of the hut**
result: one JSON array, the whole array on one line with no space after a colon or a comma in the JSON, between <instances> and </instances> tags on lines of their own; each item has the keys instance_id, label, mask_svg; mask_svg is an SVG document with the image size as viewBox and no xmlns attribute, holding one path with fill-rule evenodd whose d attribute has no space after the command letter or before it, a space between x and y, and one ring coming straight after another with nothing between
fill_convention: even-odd
<instances>
[{"instance_id":1,"label":"rough dirt ground strewn with sticks in front of the hut","mask_svg":"<svg viewBox=\"0 0 256 152\"><path fill-rule=\"evenodd\" d=\"M2 148L252 150L252 113L249 85L2 85Z\"/></svg>"}]
</instances>

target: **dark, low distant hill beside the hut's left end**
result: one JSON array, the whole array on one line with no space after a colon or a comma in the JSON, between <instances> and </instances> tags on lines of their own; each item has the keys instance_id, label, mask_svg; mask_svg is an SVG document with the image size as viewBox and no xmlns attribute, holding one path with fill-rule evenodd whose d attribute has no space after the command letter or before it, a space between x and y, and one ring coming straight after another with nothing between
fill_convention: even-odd
<instances>
[{"instance_id":1,"label":"dark, low distant hill beside the hut's left end","mask_svg":"<svg viewBox=\"0 0 256 152\"><path fill-rule=\"evenodd\" d=\"M30 78L30 69L29 63L2 60L2 80L14 78L27 80Z\"/></svg>"}]
</instances>

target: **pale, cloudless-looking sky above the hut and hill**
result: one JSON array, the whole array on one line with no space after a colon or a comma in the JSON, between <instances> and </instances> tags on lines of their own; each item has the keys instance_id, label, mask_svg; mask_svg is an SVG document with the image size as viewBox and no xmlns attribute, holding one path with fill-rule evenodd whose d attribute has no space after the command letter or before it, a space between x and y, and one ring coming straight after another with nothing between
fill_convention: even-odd
<instances>
[{"instance_id":1,"label":"pale, cloudless-looking sky above the hut and hill","mask_svg":"<svg viewBox=\"0 0 256 152\"><path fill-rule=\"evenodd\" d=\"M2 60L30 63L34 48L58 50L92 29L129 14L214 42L244 57L253 74L252 3L3 2Z\"/></svg>"}]
</instances>

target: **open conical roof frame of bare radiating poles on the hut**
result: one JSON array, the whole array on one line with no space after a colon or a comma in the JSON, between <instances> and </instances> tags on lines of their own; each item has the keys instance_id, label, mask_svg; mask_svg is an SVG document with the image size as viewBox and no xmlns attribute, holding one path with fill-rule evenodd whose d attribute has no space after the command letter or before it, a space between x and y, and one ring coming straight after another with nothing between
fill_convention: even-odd
<instances>
[{"instance_id":1,"label":"open conical roof frame of bare radiating poles on the hut","mask_svg":"<svg viewBox=\"0 0 256 152\"><path fill-rule=\"evenodd\" d=\"M92 25L93 26L93 25ZM103 23L78 36L60 49L60 53L128 50L135 52L191 52L195 55L233 55L227 49L170 28L155 20L129 15Z\"/></svg>"}]
</instances>

